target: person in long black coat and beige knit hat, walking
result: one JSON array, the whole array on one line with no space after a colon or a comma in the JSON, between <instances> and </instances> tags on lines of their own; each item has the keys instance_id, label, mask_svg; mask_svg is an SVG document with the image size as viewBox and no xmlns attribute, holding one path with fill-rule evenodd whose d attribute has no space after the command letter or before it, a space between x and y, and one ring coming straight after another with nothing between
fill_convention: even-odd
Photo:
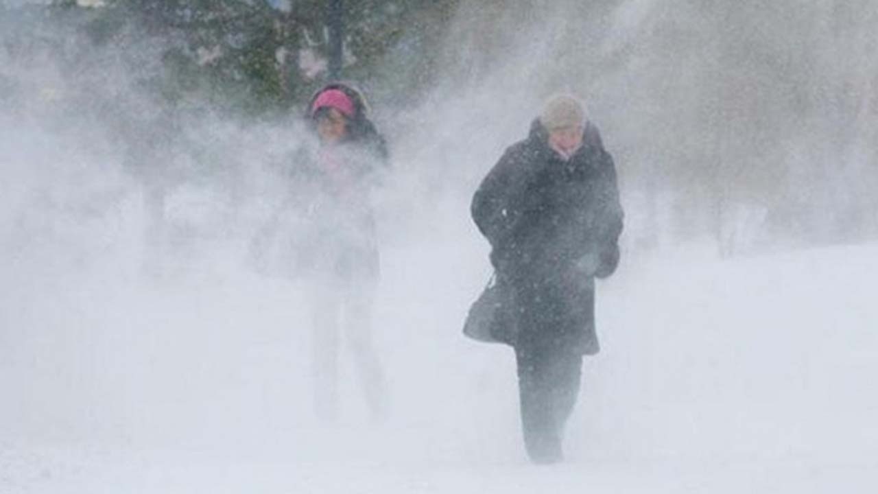
<instances>
[{"instance_id":1,"label":"person in long black coat and beige knit hat, walking","mask_svg":"<svg viewBox=\"0 0 878 494\"><path fill-rule=\"evenodd\" d=\"M479 185L472 218L507 296L494 336L515 348L529 457L561 461L583 355L600 349L594 278L619 262L615 166L578 99L552 98Z\"/></svg>"}]
</instances>

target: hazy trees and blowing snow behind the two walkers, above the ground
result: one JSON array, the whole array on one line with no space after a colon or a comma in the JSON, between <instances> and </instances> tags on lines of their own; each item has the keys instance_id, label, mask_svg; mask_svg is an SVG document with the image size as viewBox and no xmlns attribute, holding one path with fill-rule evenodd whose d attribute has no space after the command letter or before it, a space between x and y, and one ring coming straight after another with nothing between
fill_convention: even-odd
<instances>
[{"instance_id":1,"label":"hazy trees and blowing snow behind the two walkers, above the ground","mask_svg":"<svg viewBox=\"0 0 878 494\"><path fill-rule=\"evenodd\" d=\"M192 183L253 199L241 179L288 150L272 147L297 133L277 132L327 76L323 5L80 4L104 6L3 7L7 126L39 122L158 189L155 201ZM343 77L370 97L399 175L431 200L468 194L547 96L572 91L618 162L631 245L712 237L734 254L876 234L870 2L348 10ZM6 148L23 161L23 146Z\"/></svg>"}]
</instances>

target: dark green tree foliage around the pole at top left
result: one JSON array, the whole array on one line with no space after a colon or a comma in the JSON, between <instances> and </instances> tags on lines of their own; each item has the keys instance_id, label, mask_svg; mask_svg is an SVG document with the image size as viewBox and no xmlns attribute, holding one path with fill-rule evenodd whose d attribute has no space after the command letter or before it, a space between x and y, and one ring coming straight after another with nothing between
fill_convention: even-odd
<instances>
[{"instance_id":1,"label":"dark green tree foliage around the pole at top left","mask_svg":"<svg viewBox=\"0 0 878 494\"><path fill-rule=\"evenodd\" d=\"M342 78L416 96L435 76L430 48L457 4L347 0ZM136 53L144 44L160 46L159 70L133 70L146 72L140 74L145 84L169 105L259 116L284 113L327 82L325 71L309 75L299 63L305 49L327 58L326 2L286 6L269 0L106 0L85 8L58 0L51 9L77 18L98 47Z\"/></svg>"}]
</instances>

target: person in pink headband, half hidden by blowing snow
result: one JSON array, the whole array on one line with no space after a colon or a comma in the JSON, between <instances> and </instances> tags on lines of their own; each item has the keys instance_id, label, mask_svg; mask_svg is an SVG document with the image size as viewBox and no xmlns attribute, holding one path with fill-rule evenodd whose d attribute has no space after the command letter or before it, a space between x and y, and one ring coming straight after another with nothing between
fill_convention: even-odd
<instances>
[{"instance_id":1,"label":"person in pink headband, half hidden by blowing snow","mask_svg":"<svg viewBox=\"0 0 878 494\"><path fill-rule=\"evenodd\" d=\"M297 264L309 282L312 312L314 411L330 421L338 413L338 360L347 340L371 416L381 420L387 410L384 368L371 339L380 270L370 194L387 166L387 149L363 95L348 84L325 86L305 113L319 141L299 163L309 180L299 193L309 200L297 212Z\"/></svg>"}]
</instances>

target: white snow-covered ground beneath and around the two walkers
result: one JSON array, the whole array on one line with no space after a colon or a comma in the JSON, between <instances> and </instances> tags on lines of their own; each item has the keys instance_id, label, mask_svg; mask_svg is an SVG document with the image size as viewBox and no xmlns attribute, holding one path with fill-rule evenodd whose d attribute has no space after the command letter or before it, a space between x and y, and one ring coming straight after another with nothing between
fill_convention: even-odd
<instances>
[{"instance_id":1,"label":"white snow-covered ground beneath and around the two walkers","mask_svg":"<svg viewBox=\"0 0 878 494\"><path fill-rule=\"evenodd\" d=\"M464 208L455 217L465 219ZM0 492L870 492L878 245L721 261L631 254L600 285L568 461L529 465L515 367L460 334L487 278L468 222L387 246L392 416L312 417L301 288L246 270L143 280L7 263Z\"/></svg>"}]
</instances>

